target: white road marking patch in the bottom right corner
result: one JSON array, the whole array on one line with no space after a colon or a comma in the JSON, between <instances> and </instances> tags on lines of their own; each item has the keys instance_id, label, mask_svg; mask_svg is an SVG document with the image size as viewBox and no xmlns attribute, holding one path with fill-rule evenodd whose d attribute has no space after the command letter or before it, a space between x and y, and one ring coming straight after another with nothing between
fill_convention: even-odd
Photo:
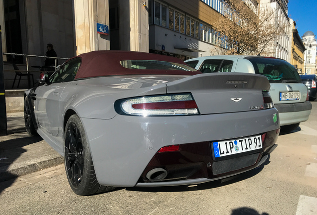
<instances>
[{"instance_id":1,"label":"white road marking patch in the bottom right corner","mask_svg":"<svg viewBox=\"0 0 317 215\"><path fill-rule=\"evenodd\" d=\"M298 201L296 215L316 215L317 214L317 198L300 196Z\"/></svg>"}]
</instances>

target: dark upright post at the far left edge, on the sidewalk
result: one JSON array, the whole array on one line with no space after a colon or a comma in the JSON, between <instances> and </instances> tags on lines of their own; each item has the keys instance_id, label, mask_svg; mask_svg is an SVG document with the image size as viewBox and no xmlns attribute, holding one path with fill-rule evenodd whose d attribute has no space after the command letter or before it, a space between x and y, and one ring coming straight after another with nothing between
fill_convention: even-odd
<instances>
[{"instance_id":1,"label":"dark upright post at the far left edge, on the sidewalk","mask_svg":"<svg viewBox=\"0 0 317 215\"><path fill-rule=\"evenodd\" d=\"M7 135L5 90L3 75L2 33L0 25L0 136Z\"/></svg>"}]
</instances>

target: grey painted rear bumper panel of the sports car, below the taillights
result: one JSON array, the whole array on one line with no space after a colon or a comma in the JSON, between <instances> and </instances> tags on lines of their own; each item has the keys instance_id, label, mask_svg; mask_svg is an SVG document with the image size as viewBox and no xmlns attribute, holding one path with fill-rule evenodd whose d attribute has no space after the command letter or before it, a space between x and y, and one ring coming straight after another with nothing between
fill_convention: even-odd
<instances>
[{"instance_id":1,"label":"grey painted rear bumper panel of the sports car, below the taillights","mask_svg":"<svg viewBox=\"0 0 317 215\"><path fill-rule=\"evenodd\" d=\"M112 119L81 120L98 182L107 186L133 187L161 147L232 139L276 130L280 124L279 120L274 120L275 114L278 116L276 108L272 108L238 114L166 117L117 115ZM261 159L261 155L258 159Z\"/></svg>"}]
</instances>

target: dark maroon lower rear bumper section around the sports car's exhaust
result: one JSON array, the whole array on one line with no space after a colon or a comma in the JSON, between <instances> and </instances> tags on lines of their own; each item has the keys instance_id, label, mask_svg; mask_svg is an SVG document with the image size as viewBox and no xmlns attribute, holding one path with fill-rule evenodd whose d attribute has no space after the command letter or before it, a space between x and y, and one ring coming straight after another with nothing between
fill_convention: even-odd
<instances>
[{"instance_id":1,"label":"dark maroon lower rear bumper section around the sports car's exhaust","mask_svg":"<svg viewBox=\"0 0 317 215\"><path fill-rule=\"evenodd\" d=\"M179 146L179 151L158 152L142 173L138 184L152 183L186 184L191 179L216 180L251 170L263 163L263 157L276 148L279 132L265 133L263 149L255 152L236 154L221 159L213 157L211 142L189 143ZM211 146L211 147L210 147ZM158 170L158 171L156 171ZM165 171L163 178L160 170ZM154 172L156 172L154 174ZM152 177L153 176L153 177ZM184 182L183 182L184 181ZM158 183L159 182L159 183ZM146 185L144 185L146 186Z\"/></svg>"}]
</instances>

